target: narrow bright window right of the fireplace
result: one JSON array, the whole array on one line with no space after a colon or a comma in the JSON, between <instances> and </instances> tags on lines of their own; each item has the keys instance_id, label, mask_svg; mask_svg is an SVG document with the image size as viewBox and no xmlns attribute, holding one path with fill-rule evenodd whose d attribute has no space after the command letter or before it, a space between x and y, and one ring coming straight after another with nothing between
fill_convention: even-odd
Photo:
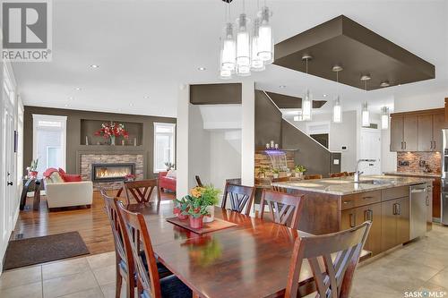
<instances>
[{"instance_id":1,"label":"narrow bright window right of the fireplace","mask_svg":"<svg viewBox=\"0 0 448 298\"><path fill-rule=\"evenodd\" d=\"M154 123L154 173L165 171L165 163L174 164L175 142L176 124Z\"/></svg>"}]
</instances>

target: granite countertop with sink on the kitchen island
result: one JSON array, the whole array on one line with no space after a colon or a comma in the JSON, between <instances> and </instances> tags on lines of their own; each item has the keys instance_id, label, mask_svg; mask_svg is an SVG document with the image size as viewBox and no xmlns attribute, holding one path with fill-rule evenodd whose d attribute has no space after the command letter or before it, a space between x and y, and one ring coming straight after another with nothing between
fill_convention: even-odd
<instances>
[{"instance_id":1,"label":"granite countertop with sink on the kitchen island","mask_svg":"<svg viewBox=\"0 0 448 298\"><path fill-rule=\"evenodd\" d=\"M341 178L303 180L300 182L272 183L272 185L306 192L346 195L357 192L377 191L392 187L414 185L433 181L430 177L418 178L388 175L362 175L360 180L365 183L354 183L353 177L350 176ZM369 181L375 181L376 183L368 183Z\"/></svg>"}]
</instances>

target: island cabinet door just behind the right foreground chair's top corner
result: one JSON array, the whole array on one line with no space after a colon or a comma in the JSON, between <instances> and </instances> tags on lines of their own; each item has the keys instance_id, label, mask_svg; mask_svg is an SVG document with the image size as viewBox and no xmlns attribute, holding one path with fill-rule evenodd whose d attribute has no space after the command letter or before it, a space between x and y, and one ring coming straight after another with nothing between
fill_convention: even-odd
<instances>
[{"instance_id":1,"label":"island cabinet door just behind the right foreground chair's top corner","mask_svg":"<svg viewBox=\"0 0 448 298\"><path fill-rule=\"evenodd\" d=\"M358 207L356 213L357 226L366 220L372 221L372 226L368 234L365 249L378 254L381 252L381 203Z\"/></svg>"}]
</instances>

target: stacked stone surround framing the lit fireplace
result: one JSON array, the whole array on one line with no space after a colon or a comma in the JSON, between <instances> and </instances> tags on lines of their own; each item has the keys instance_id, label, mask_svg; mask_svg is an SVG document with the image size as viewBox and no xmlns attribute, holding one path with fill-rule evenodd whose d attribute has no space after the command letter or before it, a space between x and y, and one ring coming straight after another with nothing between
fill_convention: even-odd
<instances>
[{"instance_id":1,"label":"stacked stone surround framing the lit fireplace","mask_svg":"<svg viewBox=\"0 0 448 298\"><path fill-rule=\"evenodd\" d=\"M82 180L91 181L91 165L92 164L112 164L126 163L134 164L135 176L137 180L143 179L143 168L145 160L140 152L129 153L105 153L105 152L78 152L79 172ZM123 185L122 182L103 182L93 183L95 190L104 187L108 190L119 189Z\"/></svg>"}]
</instances>

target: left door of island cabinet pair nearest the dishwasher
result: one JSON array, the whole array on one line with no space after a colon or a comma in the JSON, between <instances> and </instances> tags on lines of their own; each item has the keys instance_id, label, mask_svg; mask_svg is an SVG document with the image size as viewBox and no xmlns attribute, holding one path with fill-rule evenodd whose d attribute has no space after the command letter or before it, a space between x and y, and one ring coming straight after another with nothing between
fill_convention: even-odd
<instances>
[{"instance_id":1,"label":"left door of island cabinet pair nearest the dishwasher","mask_svg":"<svg viewBox=\"0 0 448 298\"><path fill-rule=\"evenodd\" d=\"M381 250L387 251L397 243L397 218L395 204L397 200L386 200L381 203Z\"/></svg>"}]
</instances>

